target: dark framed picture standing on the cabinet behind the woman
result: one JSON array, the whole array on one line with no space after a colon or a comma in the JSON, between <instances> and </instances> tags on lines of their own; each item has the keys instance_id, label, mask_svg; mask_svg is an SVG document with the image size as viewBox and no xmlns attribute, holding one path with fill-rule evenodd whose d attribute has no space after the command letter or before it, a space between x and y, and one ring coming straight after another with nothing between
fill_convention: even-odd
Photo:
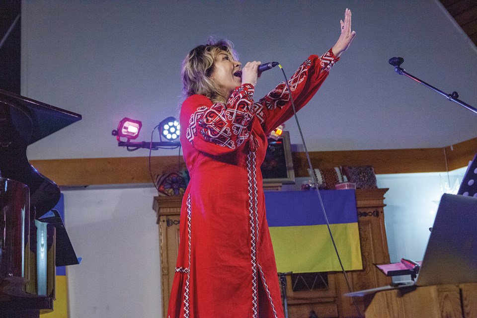
<instances>
[{"instance_id":1,"label":"dark framed picture standing on the cabinet behind the woman","mask_svg":"<svg viewBox=\"0 0 477 318\"><path fill-rule=\"evenodd\" d=\"M260 170L263 183L295 183L290 135L287 131L284 131L277 140L268 139L267 153Z\"/></svg>"}]
</instances>

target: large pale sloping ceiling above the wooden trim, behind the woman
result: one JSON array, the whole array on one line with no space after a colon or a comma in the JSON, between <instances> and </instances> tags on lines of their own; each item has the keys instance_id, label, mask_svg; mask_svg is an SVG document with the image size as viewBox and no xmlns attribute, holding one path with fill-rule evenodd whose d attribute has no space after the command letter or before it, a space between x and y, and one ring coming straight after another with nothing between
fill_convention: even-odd
<instances>
[{"instance_id":1,"label":"large pale sloping ceiling above the wooden trim, behind the woman","mask_svg":"<svg viewBox=\"0 0 477 318\"><path fill-rule=\"evenodd\" d=\"M23 1L22 95L83 116L30 146L28 158L147 156L117 147L111 130L136 118L149 141L176 114L180 62L194 46L226 37L242 62L278 61L291 76L335 43L346 7L357 36L299 112L310 151L434 148L477 136L477 115L388 64L403 57L407 72L477 107L477 49L437 0ZM256 98L282 79L278 68L264 73ZM301 144L294 121L286 130Z\"/></svg>"}]
</instances>

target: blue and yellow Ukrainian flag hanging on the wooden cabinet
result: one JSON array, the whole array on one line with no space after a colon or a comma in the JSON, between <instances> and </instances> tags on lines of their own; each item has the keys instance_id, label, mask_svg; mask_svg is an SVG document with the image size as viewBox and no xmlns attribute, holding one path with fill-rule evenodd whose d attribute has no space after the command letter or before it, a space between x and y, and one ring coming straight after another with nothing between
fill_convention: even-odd
<instances>
[{"instance_id":1,"label":"blue and yellow Ukrainian flag hanging on the wooden cabinet","mask_svg":"<svg viewBox=\"0 0 477 318\"><path fill-rule=\"evenodd\" d=\"M363 269L354 190L320 191L345 270ZM265 192L279 273L341 271L316 191Z\"/></svg>"}]
</instances>

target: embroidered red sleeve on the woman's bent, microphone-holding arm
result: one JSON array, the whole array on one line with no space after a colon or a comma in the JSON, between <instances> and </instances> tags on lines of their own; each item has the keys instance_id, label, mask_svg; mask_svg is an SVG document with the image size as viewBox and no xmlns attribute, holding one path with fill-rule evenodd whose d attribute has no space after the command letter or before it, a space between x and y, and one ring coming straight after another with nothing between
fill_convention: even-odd
<instances>
[{"instance_id":1,"label":"embroidered red sleeve on the woman's bent, microphone-holding arm","mask_svg":"<svg viewBox=\"0 0 477 318\"><path fill-rule=\"evenodd\" d=\"M227 104L212 104L202 95L186 99L181 107L181 125L187 123L186 138L197 150L218 156L237 150L250 136L253 118L252 84L237 87Z\"/></svg>"}]
</instances>

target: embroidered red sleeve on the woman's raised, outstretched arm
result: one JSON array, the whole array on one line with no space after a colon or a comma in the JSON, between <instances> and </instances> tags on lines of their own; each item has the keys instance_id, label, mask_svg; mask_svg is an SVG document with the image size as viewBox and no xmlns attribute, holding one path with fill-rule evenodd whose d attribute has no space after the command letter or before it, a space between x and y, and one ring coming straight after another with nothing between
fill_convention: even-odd
<instances>
[{"instance_id":1,"label":"embroidered red sleeve on the woman's raised, outstretched arm","mask_svg":"<svg viewBox=\"0 0 477 318\"><path fill-rule=\"evenodd\" d=\"M311 55L288 80L295 107L298 111L315 95L339 60L329 49L321 57ZM254 105L254 113L260 120L265 134L270 133L293 116L288 87L283 81Z\"/></svg>"}]
</instances>

